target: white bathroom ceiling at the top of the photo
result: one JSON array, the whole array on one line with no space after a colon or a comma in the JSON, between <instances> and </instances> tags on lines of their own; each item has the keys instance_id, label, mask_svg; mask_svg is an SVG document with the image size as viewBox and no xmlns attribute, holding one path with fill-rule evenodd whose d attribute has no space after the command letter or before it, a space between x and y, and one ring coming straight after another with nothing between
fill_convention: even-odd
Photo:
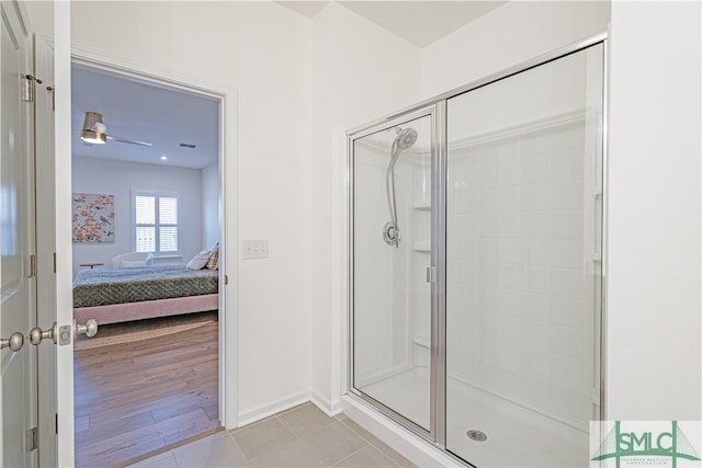
<instances>
[{"instance_id":1,"label":"white bathroom ceiling at the top of the photo","mask_svg":"<svg viewBox=\"0 0 702 468\"><path fill-rule=\"evenodd\" d=\"M329 1L286 1L278 3L307 18L315 18ZM418 47L465 26L506 1L342 1L348 8Z\"/></svg>"}]
</instances>

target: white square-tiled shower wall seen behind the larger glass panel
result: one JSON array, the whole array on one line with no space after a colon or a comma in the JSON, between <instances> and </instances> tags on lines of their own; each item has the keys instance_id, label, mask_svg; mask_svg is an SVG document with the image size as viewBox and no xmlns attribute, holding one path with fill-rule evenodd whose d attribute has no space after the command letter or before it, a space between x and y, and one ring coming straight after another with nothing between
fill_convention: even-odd
<instances>
[{"instance_id":1,"label":"white square-tiled shower wall seen behind the larger glass panel","mask_svg":"<svg viewBox=\"0 0 702 468\"><path fill-rule=\"evenodd\" d=\"M450 148L448 372L587 427L585 122ZM591 232L591 230L590 230Z\"/></svg>"}]
</instances>

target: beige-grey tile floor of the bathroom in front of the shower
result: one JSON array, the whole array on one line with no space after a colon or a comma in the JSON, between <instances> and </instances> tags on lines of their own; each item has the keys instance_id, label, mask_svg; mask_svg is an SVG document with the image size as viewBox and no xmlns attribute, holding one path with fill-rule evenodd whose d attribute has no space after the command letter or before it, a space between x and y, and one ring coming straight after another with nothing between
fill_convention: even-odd
<instances>
[{"instance_id":1,"label":"beige-grey tile floor of the bathroom in front of the shower","mask_svg":"<svg viewBox=\"0 0 702 468\"><path fill-rule=\"evenodd\" d=\"M415 467L355 422L301 404L234 431L222 431L133 468Z\"/></svg>"}]
</instances>

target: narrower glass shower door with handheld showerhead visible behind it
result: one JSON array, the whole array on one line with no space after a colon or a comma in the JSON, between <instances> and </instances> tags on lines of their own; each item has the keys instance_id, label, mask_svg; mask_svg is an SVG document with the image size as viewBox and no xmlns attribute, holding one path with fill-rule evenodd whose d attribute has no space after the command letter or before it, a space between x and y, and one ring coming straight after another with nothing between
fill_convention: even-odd
<instances>
[{"instance_id":1,"label":"narrower glass shower door with handheld showerhead visible behind it","mask_svg":"<svg viewBox=\"0 0 702 468\"><path fill-rule=\"evenodd\" d=\"M427 432L432 113L350 139L352 391Z\"/></svg>"}]
</instances>

